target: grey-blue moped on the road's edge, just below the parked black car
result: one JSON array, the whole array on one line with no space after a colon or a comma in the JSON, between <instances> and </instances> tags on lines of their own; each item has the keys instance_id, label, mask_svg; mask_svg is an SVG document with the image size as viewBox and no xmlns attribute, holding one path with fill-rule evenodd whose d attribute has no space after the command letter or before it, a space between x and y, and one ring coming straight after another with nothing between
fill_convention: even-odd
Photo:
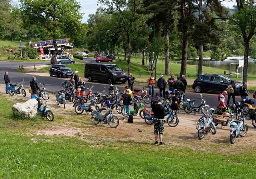
<instances>
[{"instance_id":1,"label":"grey-blue moped on the road's edge, just below the parked black car","mask_svg":"<svg viewBox=\"0 0 256 179\"><path fill-rule=\"evenodd\" d=\"M204 96L202 94L201 94L201 98L199 98L199 99L202 100L201 104L199 106L195 106L195 104L194 104L195 100L194 99L191 99L191 100L187 99L186 103L185 102L183 103L183 107L185 107L184 111L189 114L189 113L192 113L192 111L194 111L194 113L195 112L198 113L198 112L200 112L200 110L202 110L202 113L204 115L210 114L211 113L210 110L209 110L210 107L205 104L206 101L204 100Z\"/></svg>"}]
</instances>

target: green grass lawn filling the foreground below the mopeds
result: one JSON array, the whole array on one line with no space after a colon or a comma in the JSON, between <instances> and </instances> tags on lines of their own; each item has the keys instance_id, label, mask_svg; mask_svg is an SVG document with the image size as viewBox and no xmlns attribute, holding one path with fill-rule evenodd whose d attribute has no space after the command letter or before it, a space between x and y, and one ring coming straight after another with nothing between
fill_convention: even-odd
<instances>
[{"instance_id":1,"label":"green grass lawn filling the foreground below the mopeds","mask_svg":"<svg viewBox=\"0 0 256 179\"><path fill-rule=\"evenodd\" d=\"M53 122L42 118L17 120L12 115L13 104L0 95L0 178L255 177L256 155L250 147L242 153L223 154L154 146L143 140L106 142L95 140L101 136L91 136L88 142L68 136L38 136L37 130L75 122L79 117L68 119L56 114ZM87 122L86 117L83 123Z\"/></svg>"}]
</instances>

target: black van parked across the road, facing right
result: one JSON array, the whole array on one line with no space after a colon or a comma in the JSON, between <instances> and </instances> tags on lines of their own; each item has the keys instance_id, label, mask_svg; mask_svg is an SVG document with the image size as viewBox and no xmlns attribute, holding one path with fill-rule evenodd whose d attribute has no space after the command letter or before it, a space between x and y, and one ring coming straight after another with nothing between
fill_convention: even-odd
<instances>
[{"instance_id":1,"label":"black van parked across the road, facing right","mask_svg":"<svg viewBox=\"0 0 256 179\"><path fill-rule=\"evenodd\" d=\"M127 81L127 74L116 64L87 63L84 68L84 78L87 78L89 82L99 80L107 81L108 84L114 82L125 83Z\"/></svg>"}]
</instances>

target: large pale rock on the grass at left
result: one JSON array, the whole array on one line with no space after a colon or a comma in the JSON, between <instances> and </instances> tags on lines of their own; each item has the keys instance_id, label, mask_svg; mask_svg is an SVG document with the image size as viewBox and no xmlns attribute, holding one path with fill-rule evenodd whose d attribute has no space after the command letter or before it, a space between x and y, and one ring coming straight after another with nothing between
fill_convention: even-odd
<instances>
[{"instance_id":1,"label":"large pale rock on the grass at left","mask_svg":"<svg viewBox=\"0 0 256 179\"><path fill-rule=\"evenodd\" d=\"M29 99L25 103L16 103L12 106L12 111L15 115L24 119L33 118L37 113L36 99Z\"/></svg>"}]
</instances>

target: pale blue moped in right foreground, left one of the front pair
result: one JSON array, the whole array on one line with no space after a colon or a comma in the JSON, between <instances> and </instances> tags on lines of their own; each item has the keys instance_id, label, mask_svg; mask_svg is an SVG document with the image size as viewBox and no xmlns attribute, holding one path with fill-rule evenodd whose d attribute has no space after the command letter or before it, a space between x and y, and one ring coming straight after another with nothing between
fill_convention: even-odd
<instances>
[{"instance_id":1,"label":"pale blue moped in right foreground, left one of the front pair","mask_svg":"<svg viewBox=\"0 0 256 179\"><path fill-rule=\"evenodd\" d=\"M199 139L203 139L204 136L207 135L210 131L212 132L213 135L217 132L217 129L213 123L213 118L212 118L214 109L211 108L211 109L209 109L209 111L211 112L211 114L202 116L198 120L196 129L198 130L198 138ZM206 118L208 118L208 121Z\"/></svg>"}]
</instances>

